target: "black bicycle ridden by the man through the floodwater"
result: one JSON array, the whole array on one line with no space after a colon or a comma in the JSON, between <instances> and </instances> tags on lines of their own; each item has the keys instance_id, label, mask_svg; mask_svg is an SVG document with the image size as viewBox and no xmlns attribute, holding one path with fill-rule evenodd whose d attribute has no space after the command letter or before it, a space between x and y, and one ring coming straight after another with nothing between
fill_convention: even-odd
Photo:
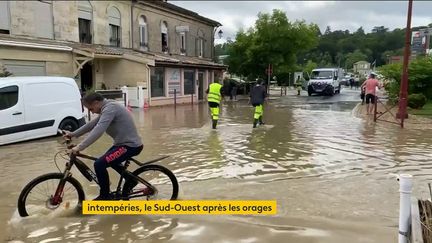
<instances>
[{"instance_id":1,"label":"black bicycle ridden by the man through the floodwater","mask_svg":"<svg viewBox=\"0 0 432 243\"><path fill-rule=\"evenodd\" d=\"M68 149L74 146L71 144L70 139L67 139L65 144ZM59 153L60 152L54 157L56 166L56 157ZM78 159L78 157L80 157L95 161L97 158L81 153L66 154L69 157L69 161L66 162L65 169L62 173L41 175L30 181L23 188L18 197L18 212L21 217L34 215L41 208L54 211L59 208L61 204L64 204L65 208L70 208L72 206L79 209L82 201L85 200L85 193L81 183L72 176L71 169L74 165L87 180L90 182L95 181L99 185L96 174L83 161ZM177 178L168 168L154 164L168 157L169 156L162 156L144 163L134 158L126 160L123 165L122 173L120 174L117 188L114 192L111 192L112 200L130 200L136 198L144 198L145 200L177 199L179 190ZM131 161L139 166L133 172L127 170ZM57 168L60 170L58 166ZM157 176L150 176L148 172L159 172L167 178L161 179ZM170 182L171 185L167 185L166 183L168 182ZM50 188L50 186L53 188ZM71 189L74 189L75 192L70 193ZM164 192L162 189L167 189L169 193L161 193ZM159 196L166 196L166 198L160 198ZM34 203L40 204L35 205Z\"/></svg>"}]
</instances>

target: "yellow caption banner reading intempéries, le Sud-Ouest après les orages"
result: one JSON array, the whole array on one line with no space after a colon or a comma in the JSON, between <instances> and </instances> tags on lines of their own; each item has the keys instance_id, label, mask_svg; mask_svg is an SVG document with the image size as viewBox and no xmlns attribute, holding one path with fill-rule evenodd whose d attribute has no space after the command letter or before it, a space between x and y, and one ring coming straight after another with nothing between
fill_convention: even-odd
<instances>
[{"instance_id":1,"label":"yellow caption banner reading intemp\u00e9ries, le Sud-Ouest apr\u00e8s les orages","mask_svg":"<svg viewBox=\"0 0 432 243\"><path fill-rule=\"evenodd\" d=\"M83 214L274 215L275 200L84 201Z\"/></svg>"}]
</instances>

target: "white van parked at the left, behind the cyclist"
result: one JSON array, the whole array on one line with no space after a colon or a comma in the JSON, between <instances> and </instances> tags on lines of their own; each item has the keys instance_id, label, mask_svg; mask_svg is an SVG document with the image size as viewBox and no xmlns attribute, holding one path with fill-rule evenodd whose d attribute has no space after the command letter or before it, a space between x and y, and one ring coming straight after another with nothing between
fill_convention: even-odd
<instances>
[{"instance_id":1,"label":"white van parked at the left, behind the cyclist","mask_svg":"<svg viewBox=\"0 0 432 243\"><path fill-rule=\"evenodd\" d=\"M75 80L0 78L0 145L74 131L85 123Z\"/></svg>"}]
</instances>

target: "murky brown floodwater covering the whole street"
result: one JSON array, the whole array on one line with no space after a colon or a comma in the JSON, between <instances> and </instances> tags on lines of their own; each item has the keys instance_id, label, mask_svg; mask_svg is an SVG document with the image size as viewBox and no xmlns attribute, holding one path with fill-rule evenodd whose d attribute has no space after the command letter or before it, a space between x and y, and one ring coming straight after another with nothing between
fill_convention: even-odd
<instances>
[{"instance_id":1,"label":"murky brown floodwater covering the whole street","mask_svg":"<svg viewBox=\"0 0 432 243\"><path fill-rule=\"evenodd\" d=\"M274 216L83 216L60 212L19 217L21 189L58 171L61 138L0 147L0 238L9 242L396 242L395 175L414 175L414 193L429 197L432 135L352 116L358 93L272 99L265 126L252 128L246 100L226 102L211 129L207 106L133 110L144 139L141 160L163 162L181 199L277 200ZM100 155L104 136L86 150ZM61 164L61 162L59 163ZM98 187L77 172L87 197ZM114 181L115 174L111 174ZM1 240L1 239L0 239Z\"/></svg>"}]
</instances>

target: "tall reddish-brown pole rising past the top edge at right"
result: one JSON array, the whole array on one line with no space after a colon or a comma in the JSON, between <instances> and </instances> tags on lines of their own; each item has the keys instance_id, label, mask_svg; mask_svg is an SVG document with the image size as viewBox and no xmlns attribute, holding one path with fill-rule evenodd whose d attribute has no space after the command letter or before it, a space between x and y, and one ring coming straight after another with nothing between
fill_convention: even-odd
<instances>
[{"instance_id":1,"label":"tall reddish-brown pole rising past the top edge at right","mask_svg":"<svg viewBox=\"0 0 432 243\"><path fill-rule=\"evenodd\" d=\"M401 127L404 126L404 120L408 118L407 105L408 105L408 62L410 56L410 45L411 45L411 14L412 14L412 0L408 0L408 17L407 27L405 32L405 50L402 68L402 81L399 91L399 111L396 114L396 118L401 120Z\"/></svg>"}]
</instances>

